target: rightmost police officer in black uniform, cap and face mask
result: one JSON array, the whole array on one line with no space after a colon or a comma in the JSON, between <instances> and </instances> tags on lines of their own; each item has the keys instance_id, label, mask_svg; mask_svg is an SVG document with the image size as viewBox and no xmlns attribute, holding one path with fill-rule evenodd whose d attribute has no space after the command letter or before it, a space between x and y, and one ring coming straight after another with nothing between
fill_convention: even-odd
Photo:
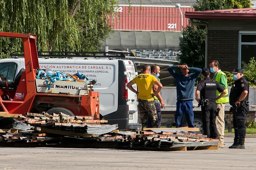
<instances>
[{"instance_id":1,"label":"rightmost police officer in black uniform, cap and face mask","mask_svg":"<svg viewBox=\"0 0 256 170\"><path fill-rule=\"evenodd\" d=\"M234 144L228 148L244 149L245 138L245 117L249 110L249 84L243 77L244 71L242 69L235 69L231 71L235 83L232 85L229 94L229 104L232 106L233 126L235 129Z\"/></svg>"}]
</instances>

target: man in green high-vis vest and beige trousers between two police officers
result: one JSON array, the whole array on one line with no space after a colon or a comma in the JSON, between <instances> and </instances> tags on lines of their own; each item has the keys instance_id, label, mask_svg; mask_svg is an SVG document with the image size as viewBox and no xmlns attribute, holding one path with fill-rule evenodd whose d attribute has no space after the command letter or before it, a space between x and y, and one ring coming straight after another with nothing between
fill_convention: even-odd
<instances>
[{"instance_id":1,"label":"man in green high-vis vest and beige trousers between two police officers","mask_svg":"<svg viewBox=\"0 0 256 170\"><path fill-rule=\"evenodd\" d=\"M217 107L220 107L219 115L216 117L216 127L218 139L220 139L220 145L224 145L224 130L225 130L225 103L229 102L228 98L228 84L227 76L224 72L220 70L220 64L217 60L210 62L210 71L214 74L213 79L217 81L226 91L224 97L217 100ZM216 92L217 97L220 92Z\"/></svg>"}]
</instances>

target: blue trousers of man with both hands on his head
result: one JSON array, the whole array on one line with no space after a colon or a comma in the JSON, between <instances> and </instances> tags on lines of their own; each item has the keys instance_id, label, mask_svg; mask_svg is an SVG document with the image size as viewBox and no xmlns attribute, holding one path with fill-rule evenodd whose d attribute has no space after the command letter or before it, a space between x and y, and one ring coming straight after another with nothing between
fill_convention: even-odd
<instances>
[{"instance_id":1,"label":"blue trousers of man with both hands on his head","mask_svg":"<svg viewBox=\"0 0 256 170\"><path fill-rule=\"evenodd\" d=\"M176 128L181 127L183 113L185 112L186 119L189 128L194 128L194 112L193 112L193 101L192 100L177 100L175 122Z\"/></svg>"}]
</instances>

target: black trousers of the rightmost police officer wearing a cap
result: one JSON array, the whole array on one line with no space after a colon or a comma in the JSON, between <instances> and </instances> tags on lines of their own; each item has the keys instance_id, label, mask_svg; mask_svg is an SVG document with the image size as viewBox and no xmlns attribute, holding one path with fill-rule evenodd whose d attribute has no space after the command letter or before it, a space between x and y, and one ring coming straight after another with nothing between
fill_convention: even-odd
<instances>
[{"instance_id":1,"label":"black trousers of the rightmost police officer wearing a cap","mask_svg":"<svg viewBox=\"0 0 256 170\"><path fill-rule=\"evenodd\" d=\"M235 129L235 138L244 139L246 134L245 117L248 113L249 106L242 110L240 107L232 106L233 127Z\"/></svg>"}]
</instances>

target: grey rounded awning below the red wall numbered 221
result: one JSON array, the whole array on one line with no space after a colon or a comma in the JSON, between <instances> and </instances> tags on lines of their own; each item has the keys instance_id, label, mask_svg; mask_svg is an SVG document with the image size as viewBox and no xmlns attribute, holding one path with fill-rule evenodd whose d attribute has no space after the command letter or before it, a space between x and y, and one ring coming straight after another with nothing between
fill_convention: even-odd
<instances>
[{"instance_id":1,"label":"grey rounded awning below the red wall numbered 221","mask_svg":"<svg viewBox=\"0 0 256 170\"><path fill-rule=\"evenodd\" d=\"M102 43L112 50L129 49L179 49L180 32L114 31L110 39Z\"/></svg>"}]
</instances>

